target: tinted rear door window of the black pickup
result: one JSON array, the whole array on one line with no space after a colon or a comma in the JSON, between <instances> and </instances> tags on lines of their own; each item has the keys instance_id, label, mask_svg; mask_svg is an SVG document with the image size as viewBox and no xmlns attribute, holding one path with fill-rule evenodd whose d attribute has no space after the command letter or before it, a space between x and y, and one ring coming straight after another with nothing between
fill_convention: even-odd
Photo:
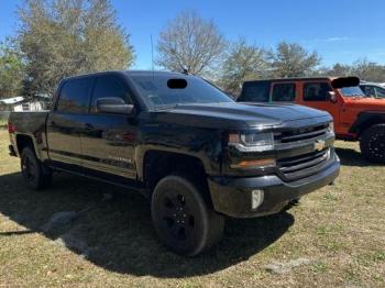
<instances>
[{"instance_id":1,"label":"tinted rear door window of the black pickup","mask_svg":"<svg viewBox=\"0 0 385 288\"><path fill-rule=\"evenodd\" d=\"M87 113L92 79L73 79L64 84L61 90L57 111L67 113Z\"/></svg>"}]
</instances>

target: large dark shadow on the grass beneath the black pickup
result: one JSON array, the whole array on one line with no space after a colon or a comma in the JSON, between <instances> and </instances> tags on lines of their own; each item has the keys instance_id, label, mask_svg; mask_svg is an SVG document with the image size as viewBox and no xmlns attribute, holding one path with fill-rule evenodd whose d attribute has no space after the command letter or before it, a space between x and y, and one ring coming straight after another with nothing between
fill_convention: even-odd
<instances>
[{"instance_id":1,"label":"large dark shadow on the grass beneath the black pickup","mask_svg":"<svg viewBox=\"0 0 385 288\"><path fill-rule=\"evenodd\" d=\"M90 247L86 258L91 263L136 276L188 277L226 269L266 248L294 223L287 212L260 219L229 219L218 246L205 255L186 258L160 244L152 226L150 204L135 192L64 174L55 175L53 187L41 192L26 190L20 174L0 176L0 212L12 221L51 240L70 233ZM114 197L100 202L106 192ZM53 213L87 207L94 209L70 225L41 232ZM66 237L62 240L70 246Z\"/></svg>"}]
</instances>

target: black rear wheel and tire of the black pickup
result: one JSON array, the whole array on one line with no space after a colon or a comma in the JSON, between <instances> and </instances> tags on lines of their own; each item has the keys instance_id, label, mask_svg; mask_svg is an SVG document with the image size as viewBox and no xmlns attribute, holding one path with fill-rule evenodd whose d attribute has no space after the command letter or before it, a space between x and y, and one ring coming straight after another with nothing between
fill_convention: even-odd
<instances>
[{"instance_id":1,"label":"black rear wheel and tire of the black pickup","mask_svg":"<svg viewBox=\"0 0 385 288\"><path fill-rule=\"evenodd\" d=\"M30 147L21 153L21 173L26 187L32 190L47 188L52 182L52 171L43 166Z\"/></svg>"}]
</instances>

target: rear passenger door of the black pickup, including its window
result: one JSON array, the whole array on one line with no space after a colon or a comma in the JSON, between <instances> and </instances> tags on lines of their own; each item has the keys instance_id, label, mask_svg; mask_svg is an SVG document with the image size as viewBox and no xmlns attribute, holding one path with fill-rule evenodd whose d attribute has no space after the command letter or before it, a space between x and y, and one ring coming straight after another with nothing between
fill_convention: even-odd
<instances>
[{"instance_id":1,"label":"rear passenger door of the black pickup, including its window","mask_svg":"<svg viewBox=\"0 0 385 288\"><path fill-rule=\"evenodd\" d=\"M81 166L80 134L88 115L92 78L74 78L65 81L56 104L47 118L47 144L50 158L64 168ZM68 167L74 166L74 167Z\"/></svg>"}]
</instances>

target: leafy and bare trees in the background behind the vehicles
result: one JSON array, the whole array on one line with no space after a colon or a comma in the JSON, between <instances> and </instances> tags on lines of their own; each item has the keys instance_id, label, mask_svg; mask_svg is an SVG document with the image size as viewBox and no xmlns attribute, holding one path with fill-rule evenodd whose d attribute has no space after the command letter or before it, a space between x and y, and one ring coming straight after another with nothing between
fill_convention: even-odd
<instances>
[{"instance_id":1,"label":"leafy and bare trees in the background behind the vehicles","mask_svg":"<svg viewBox=\"0 0 385 288\"><path fill-rule=\"evenodd\" d=\"M109 0L24 0L16 35L0 45L0 98L53 95L63 77L128 69L130 34ZM348 76L385 82L385 66L358 59L322 66L321 55L298 43L264 48L240 36L226 40L212 20L184 11L157 37L156 64L202 76L237 95L245 80L271 77Z\"/></svg>"}]
</instances>

